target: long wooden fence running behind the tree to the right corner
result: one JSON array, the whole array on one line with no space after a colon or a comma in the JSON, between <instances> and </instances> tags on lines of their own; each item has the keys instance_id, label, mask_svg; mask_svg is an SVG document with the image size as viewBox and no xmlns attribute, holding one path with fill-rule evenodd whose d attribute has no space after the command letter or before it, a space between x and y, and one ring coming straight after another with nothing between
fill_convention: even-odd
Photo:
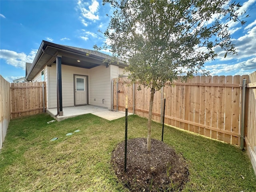
<instances>
[{"instance_id":1,"label":"long wooden fence running behind the tree to the right corner","mask_svg":"<svg viewBox=\"0 0 256 192\"><path fill-rule=\"evenodd\" d=\"M160 122L163 93L166 94L164 122L226 143L240 144L242 80L249 76L195 76L186 83L166 83L154 96L152 119ZM127 86L127 78L114 80L113 107L148 117L150 90L138 91L138 83ZM169 86L170 85L170 86ZM134 98L134 99L133 99ZM118 103L117 103L118 100Z\"/></svg>"}]
</instances>

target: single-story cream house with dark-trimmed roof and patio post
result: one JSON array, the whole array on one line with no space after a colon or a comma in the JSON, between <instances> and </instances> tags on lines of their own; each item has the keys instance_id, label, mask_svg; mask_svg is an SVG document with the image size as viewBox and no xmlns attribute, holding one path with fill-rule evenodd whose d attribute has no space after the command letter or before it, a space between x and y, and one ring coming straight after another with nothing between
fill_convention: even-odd
<instances>
[{"instance_id":1,"label":"single-story cream house with dark-trimmed roof and patio post","mask_svg":"<svg viewBox=\"0 0 256 192\"><path fill-rule=\"evenodd\" d=\"M26 81L46 82L47 108L95 105L112 108L112 78L127 66L98 51L42 41L33 63L26 63Z\"/></svg>"}]
</instances>

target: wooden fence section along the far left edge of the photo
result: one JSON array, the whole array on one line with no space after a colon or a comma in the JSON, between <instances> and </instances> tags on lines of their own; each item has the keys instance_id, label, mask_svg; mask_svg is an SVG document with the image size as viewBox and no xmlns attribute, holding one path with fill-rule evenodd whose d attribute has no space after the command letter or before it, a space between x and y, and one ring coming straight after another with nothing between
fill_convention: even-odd
<instances>
[{"instance_id":1,"label":"wooden fence section along the far left edge of the photo","mask_svg":"<svg viewBox=\"0 0 256 192\"><path fill-rule=\"evenodd\" d=\"M10 122L10 106L10 83L0 75L0 149Z\"/></svg>"}]
</instances>

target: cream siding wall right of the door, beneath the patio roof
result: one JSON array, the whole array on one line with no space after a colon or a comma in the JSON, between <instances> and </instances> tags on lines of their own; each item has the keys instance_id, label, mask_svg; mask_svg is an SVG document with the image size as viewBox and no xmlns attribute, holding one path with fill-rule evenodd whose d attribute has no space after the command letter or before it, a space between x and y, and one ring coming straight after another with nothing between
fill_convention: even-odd
<instances>
[{"instance_id":1,"label":"cream siding wall right of the door, beneath the patio roof","mask_svg":"<svg viewBox=\"0 0 256 192\"><path fill-rule=\"evenodd\" d=\"M111 108L111 66L98 66L90 69L89 104ZM104 99L104 102L102 102Z\"/></svg>"}]
</instances>

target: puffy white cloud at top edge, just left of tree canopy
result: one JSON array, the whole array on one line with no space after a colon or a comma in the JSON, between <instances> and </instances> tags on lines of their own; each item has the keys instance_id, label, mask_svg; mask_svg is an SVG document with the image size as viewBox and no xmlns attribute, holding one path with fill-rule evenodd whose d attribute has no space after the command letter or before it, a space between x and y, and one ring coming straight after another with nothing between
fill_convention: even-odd
<instances>
[{"instance_id":1,"label":"puffy white cloud at top edge, just left of tree canopy","mask_svg":"<svg viewBox=\"0 0 256 192\"><path fill-rule=\"evenodd\" d=\"M88 26L88 22L86 22L85 19L88 20L99 20L99 15L98 15L98 8L99 8L99 3L96 0L92 0L91 4L89 4L87 1L84 2L82 0L78 0L77 2L77 7L81 13L82 16L79 17L80 21L84 26Z\"/></svg>"}]
</instances>

